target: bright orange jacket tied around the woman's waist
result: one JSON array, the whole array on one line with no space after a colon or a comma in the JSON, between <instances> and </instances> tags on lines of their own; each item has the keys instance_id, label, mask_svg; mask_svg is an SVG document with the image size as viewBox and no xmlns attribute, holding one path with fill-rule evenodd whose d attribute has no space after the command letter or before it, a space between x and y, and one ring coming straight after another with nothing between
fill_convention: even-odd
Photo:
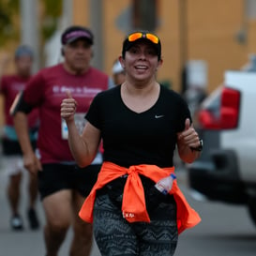
<instances>
[{"instance_id":1,"label":"bright orange jacket tied around the woman's waist","mask_svg":"<svg viewBox=\"0 0 256 256\"><path fill-rule=\"evenodd\" d=\"M145 221L149 222L150 218L146 211L143 184L139 174L150 178L154 182L166 177L174 172L172 168L159 168L156 165L134 165L129 168L121 167L112 162L104 162L98 173L98 181L92 188L91 193L86 198L79 212L80 218L86 222L93 222L93 209L96 199L97 190L121 175L128 174L127 182L124 188L122 213L128 222ZM177 227L178 233L182 233L188 228L197 225L201 218L197 212L192 209L185 196L177 186L177 181L173 180L173 188L170 191L173 194L177 204Z\"/></svg>"}]
</instances>

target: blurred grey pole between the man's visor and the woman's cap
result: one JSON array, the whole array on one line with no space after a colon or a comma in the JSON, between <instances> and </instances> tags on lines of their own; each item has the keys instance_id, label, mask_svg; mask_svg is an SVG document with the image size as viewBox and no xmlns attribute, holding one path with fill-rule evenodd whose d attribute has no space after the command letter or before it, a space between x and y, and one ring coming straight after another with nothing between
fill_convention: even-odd
<instances>
[{"instance_id":1,"label":"blurred grey pole between the man's visor and the woman's cap","mask_svg":"<svg viewBox=\"0 0 256 256\"><path fill-rule=\"evenodd\" d=\"M92 65L101 70L103 68L102 15L102 0L90 0L90 28L95 36Z\"/></svg>"}]
</instances>

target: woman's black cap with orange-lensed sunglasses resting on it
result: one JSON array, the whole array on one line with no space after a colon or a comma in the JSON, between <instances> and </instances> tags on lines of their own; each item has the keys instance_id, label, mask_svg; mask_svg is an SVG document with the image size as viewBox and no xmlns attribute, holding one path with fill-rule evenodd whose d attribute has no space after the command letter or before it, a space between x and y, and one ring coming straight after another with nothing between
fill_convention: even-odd
<instances>
[{"instance_id":1,"label":"woman's black cap with orange-lensed sunglasses resting on it","mask_svg":"<svg viewBox=\"0 0 256 256\"><path fill-rule=\"evenodd\" d=\"M147 40L152 44L152 46L156 49L156 53L158 55L158 60L161 58L161 42L157 35L149 32L149 31L135 31L125 38L123 42L123 50L122 56L125 58L126 52L139 40Z\"/></svg>"}]
</instances>

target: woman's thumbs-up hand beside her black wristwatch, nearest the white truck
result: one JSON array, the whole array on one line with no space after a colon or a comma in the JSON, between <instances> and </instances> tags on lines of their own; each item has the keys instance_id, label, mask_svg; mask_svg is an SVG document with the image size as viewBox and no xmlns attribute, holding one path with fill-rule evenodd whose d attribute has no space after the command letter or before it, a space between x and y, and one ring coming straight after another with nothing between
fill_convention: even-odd
<instances>
[{"instance_id":1,"label":"woman's thumbs-up hand beside her black wristwatch, nearest the white truck","mask_svg":"<svg viewBox=\"0 0 256 256\"><path fill-rule=\"evenodd\" d=\"M198 133L190 125L190 119L185 120L185 128L182 132L178 132L177 140L179 144L186 145L188 147L198 147L200 145L200 139Z\"/></svg>"}]
</instances>

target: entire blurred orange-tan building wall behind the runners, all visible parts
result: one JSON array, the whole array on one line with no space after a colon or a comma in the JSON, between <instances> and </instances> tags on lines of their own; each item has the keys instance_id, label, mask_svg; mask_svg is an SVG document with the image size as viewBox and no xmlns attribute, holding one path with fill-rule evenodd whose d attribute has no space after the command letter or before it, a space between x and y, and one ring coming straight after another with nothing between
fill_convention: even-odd
<instances>
[{"instance_id":1,"label":"entire blurred orange-tan building wall behind the runners, all visible parts","mask_svg":"<svg viewBox=\"0 0 256 256\"><path fill-rule=\"evenodd\" d=\"M88 0L74 0L74 23L89 24ZM102 1L105 72L111 74L113 60L120 55L125 32L116 19L130 0ZM158 0L157 34L162 41L163 66L158 80L181 91L182 68L188 60L204 60L208 67L207 90L221 83L225 69L238 69L255 52L256 23L248 23L248 43L236 35L245 23L245 0Z\"/></svg>"}]
</instances>

